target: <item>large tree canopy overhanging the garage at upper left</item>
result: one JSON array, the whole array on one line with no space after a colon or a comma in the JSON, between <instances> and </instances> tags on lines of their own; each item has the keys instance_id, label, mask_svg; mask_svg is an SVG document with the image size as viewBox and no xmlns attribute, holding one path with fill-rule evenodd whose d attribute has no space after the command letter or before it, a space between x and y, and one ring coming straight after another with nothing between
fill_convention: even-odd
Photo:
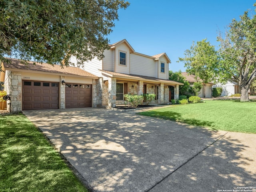
<instances>
[{"instance_id":1,"label":"large tree canopy overhanging the garage at upper left","mask_svg":"<svg viewBox=\"0 0 256 192\"><path fill-rule=\"evenodd\" d=\"M49 64L103 58L124 0L1 0L0 60L11 55Z\"/></svg>"}]
</instances>

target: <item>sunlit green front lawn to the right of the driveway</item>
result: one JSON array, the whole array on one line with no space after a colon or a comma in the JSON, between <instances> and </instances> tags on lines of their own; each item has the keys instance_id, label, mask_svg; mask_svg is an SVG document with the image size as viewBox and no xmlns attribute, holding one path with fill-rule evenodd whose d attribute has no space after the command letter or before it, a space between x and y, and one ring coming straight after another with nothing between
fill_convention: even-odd
<instances>
[{"instance_id":1,"label":"sunlit green front lawn to the right of the driveway","mask_svg":"<svg viewBox=\"0 0 256 192\"><path fill-rule=\"evenodd\" d=\"M256 133L256 102L209 100L139 113L212 130Z\"/></svg>"}]
</instances>

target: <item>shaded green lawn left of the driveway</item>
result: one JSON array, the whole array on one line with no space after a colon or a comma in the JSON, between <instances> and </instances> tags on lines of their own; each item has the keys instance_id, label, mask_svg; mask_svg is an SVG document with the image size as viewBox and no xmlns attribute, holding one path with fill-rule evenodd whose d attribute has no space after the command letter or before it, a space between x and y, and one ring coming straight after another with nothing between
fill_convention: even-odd
<instances>
[{"instance_id":1,"label":"shaded green lawn left of the driveway","mask_svg":"<svg viewBox=\"0 0 256 192\"><path fill-rule=\"evenodd\" d=\"M24 115L0 116L0 192L88 192Z\"/></svg>"}]
</instances>

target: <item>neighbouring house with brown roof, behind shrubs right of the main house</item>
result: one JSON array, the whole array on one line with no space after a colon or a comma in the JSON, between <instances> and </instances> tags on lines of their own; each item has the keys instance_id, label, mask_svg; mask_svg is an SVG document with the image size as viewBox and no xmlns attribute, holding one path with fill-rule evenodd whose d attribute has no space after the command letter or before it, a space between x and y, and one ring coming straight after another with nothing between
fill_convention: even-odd
<instances>
[{"instance_id":1,"label":"neighbouring house with brown roof, behind shrubs right of the main house","mask_svg":"<svg viewBox=\"0 0 256 192\"><path fill-rule=\"evenodd\" d=\"M186 80L189 82L189 84L191 86L193 86L194 82L198 82L198 81L202 82L202 80L200 78L196 79L195 75L190 75L187 72L182 72L181 74L182 74L182 76L184 76L186 78ZM209 83L202 82L203 87L200 90L198 96L201 98L211 98L213 84L214 83L212 83L212 82L209 82Z\"/></svg>"}]
</instances>

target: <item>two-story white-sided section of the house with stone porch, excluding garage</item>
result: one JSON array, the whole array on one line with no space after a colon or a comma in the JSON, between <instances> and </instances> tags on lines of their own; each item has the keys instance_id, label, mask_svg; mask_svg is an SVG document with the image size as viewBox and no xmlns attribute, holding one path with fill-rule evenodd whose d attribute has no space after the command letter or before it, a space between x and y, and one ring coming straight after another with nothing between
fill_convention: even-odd
<instances>
[{"instance_id":1,"label":"two-story white-sided section of the house with stone porch, excluding garage","mask_svg":"<svg viewBox=\"0 0 256 192\"><path fill-rule=\"evenodd\" d=\"M182 83L169 80L166 53L148 56L135 52L125 39L109 46L102 60L94 58L83 68L99 77L99 105L112 108L125 104L124 94L143 93L156 94L155 104L169 103L169 86L174 86L174 97L178 98Z\"/></svg>"}]
</instances>

